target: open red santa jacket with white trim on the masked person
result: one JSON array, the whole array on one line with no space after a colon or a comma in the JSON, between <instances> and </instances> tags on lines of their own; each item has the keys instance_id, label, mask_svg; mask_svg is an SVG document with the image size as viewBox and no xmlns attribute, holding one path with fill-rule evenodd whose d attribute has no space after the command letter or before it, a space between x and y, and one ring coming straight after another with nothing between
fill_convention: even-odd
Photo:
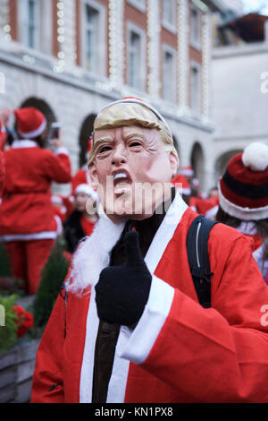
<instances>
[{"instance_id":1,"label":"open red santa jacket with white trim on the masked person","mask_svg":"<svg viewBox=\"0 0 268 421\"><path fill-rule=\"evenodd\" d=\"M144 313L134 331L121 326L107 402L267 403L268 288L251 240L213 228L212 307L205 309L186 251L197 214L174 202L147 252L154 276ZM94 288L70 293L66 314L57 298L38 348L32 402L91 401L97 327Z\"/></svg>"}]
</instances>

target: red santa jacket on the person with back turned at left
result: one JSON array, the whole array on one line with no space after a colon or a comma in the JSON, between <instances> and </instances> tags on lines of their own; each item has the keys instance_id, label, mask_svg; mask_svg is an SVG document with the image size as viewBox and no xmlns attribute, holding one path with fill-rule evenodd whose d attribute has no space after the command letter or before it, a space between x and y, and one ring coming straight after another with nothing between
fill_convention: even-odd
<instances>
[{"instance_id":1,"label":"red santa jacket on the person with back turned at left","mask_svg":"<svg viewBox=\"0 0 268 421\"><path fill-rule=\"evenodd\" d=\"M33 141L13 142L4 151L4 193L0 238L4 241L55 238L50 186L71 181L68 151L41 149Z\"/></svg>"}]
</instances>

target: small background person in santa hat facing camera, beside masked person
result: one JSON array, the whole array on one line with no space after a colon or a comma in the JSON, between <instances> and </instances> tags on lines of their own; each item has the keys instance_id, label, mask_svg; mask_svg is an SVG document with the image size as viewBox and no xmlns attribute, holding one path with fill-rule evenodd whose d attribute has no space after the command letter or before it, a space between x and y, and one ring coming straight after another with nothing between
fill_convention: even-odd
<instances>
[{"instance_id":1,"label":"small background person in santa hat facing camera, beside masked person","mask_svg":"<svg viewBox=\"0 0 268 421\"><path fill-rule=\"evenodd\" d=\"M78 185L74 192L74 208L70 217L64 222L64 238L67 251L74 253L80 240L91 236L98 219L96 191L90 185Z\"/></svg>"}]
</instances>

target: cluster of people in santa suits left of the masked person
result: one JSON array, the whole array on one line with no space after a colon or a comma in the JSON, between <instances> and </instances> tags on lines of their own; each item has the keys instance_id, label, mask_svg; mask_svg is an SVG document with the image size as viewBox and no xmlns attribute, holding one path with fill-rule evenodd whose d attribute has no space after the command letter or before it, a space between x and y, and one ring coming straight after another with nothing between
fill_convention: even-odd
<instances>
[{"instance_id":1,"label":"cluster of people in santa suits left of the masked person","mask_svg":"<svg viewBox=\"0 0 268 421\"><path fill-rule=\"evenodd\" d=\"M15 130L8 126L11 114L8 108L0 114L0 241L14 278L24 281L25 292L32 295L57 236L65 237L68 258L92 233L97 212L88 213L86 203L96 202L97 194L87 169L71 176L61 133L49 140L50 149L45 147L49 133L43 113L35 107L15 109ZM53 182L71 184L71 194L53 194Z\"/></svg>"}]
</instances>

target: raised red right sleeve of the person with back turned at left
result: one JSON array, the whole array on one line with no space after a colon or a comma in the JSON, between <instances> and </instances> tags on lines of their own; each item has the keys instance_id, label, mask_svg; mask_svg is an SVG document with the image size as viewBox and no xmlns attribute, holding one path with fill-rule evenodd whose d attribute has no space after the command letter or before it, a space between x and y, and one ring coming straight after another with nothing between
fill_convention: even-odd
<instances>
[{"instance_id":1,"label":"raised red right sleeve of the person with back turned at left","mask_svg":"<svg viewBox=\"0 0 268 421\"><path fill-rule=\"evenodd\" d=\"M71 182L71 161L65 148L55 150L55 153L46 150L43 162L46 176L56 183Z\"/></svg>"}]
</instances>

